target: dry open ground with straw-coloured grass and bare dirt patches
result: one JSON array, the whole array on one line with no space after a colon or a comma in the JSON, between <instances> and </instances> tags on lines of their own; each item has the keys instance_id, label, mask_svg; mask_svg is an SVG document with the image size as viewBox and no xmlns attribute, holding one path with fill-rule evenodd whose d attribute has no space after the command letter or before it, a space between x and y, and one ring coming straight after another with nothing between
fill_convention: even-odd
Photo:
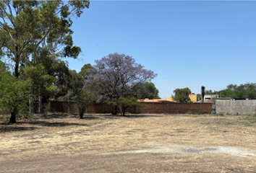
<instances>
[{"instance_id":1,"label":"dry open ground with straw-coloured grass and bare dirt patches","mask_svg":"<svg viewBox=\"0 0 256 173\"><path fill-rule=\"evenodd\" d=\"M256 172L255 122L58 113L0 122L0 172Z\"/></svg>"}]
</instances>

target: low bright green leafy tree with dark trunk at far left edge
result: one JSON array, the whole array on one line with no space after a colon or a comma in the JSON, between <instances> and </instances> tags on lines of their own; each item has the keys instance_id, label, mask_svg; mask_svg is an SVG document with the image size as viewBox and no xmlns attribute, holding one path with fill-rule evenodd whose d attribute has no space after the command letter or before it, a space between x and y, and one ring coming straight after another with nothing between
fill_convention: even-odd
<instances>
[{"instance_id":1,"label":"low bright green leafy tree with dark trunk at far left edge","mask_svg":"<svg viewBox=\"0 0 256 173\"><path fill-rule=\"evenodd\" d=\"M16 123L17 115L29 115L28 96L30 81L17 79L0 61L0 110L11 114L9 123Z\"/></svg>"}]
</instances>

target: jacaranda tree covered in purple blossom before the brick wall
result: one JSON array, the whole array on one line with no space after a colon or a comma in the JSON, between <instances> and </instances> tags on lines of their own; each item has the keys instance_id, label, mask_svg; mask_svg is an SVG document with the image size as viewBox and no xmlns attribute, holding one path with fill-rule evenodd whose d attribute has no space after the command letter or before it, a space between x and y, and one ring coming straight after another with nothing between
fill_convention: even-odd
<instances>
[{"instance_id":1,"label":"jacaranda tree covered in purple blossom before the brick wall","mask_svg":"<svg viewBox=\"0 0 256 173\"><path fill-rule=\"evenodd\" d=\"M91 69L88 81L102 94L101 101L107 102L114 107L113 114L123 107L124 100L127 102L140 98L142 86L145 82L154 79L157 74L146 70L144 66L135 63L135 59L124 54L112 53L95 61ZM128 101L128 99L130 99ZM131 102L135 105L135 102ZM126 105L127 107L127 105ZM125 110L119 109L122 115Z\"/></svg>"}]
</instances>

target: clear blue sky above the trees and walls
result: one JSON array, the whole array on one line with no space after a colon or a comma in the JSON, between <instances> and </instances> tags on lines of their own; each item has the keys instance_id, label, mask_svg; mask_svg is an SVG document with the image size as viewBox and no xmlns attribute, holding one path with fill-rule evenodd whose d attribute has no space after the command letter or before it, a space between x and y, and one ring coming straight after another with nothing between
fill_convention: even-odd
<instances>
[{"instance_id":1,"label":"clear blue sky above the trees and walls","mask_svg":"<svg viewBox=\"0 0 256 173\"><path fill-rule=\"evenodd\" d=\"M195 94L256 82L256 1L90 1L74 19L80 71L109 53L124 53L158 76L161 98L176 88Z\"/></svg>"}]
</instances>

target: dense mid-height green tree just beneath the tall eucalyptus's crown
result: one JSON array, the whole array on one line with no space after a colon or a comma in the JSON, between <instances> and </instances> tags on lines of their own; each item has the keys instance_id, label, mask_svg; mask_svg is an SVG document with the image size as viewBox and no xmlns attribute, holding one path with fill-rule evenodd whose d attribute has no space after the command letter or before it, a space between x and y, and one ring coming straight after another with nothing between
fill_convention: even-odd
<instances>
[{"instance_id":1,"label":"dense mid-height green tree just beneath the tall eucalyptus's crown","mask_svg":"<svg viewBox=\"0 0 256 173\"><path fill-rule=\"evenodd\" d=\"M38 99L38 112L42 113L43 107L47 107L49 99L67 94L65 79L69 74L67 63L54 57L38 59L37 64L21 66L20 79L30 79L33 89L33 97ZM33 111L34 112L34 111Z\"/></svg>"}]
</instances>

